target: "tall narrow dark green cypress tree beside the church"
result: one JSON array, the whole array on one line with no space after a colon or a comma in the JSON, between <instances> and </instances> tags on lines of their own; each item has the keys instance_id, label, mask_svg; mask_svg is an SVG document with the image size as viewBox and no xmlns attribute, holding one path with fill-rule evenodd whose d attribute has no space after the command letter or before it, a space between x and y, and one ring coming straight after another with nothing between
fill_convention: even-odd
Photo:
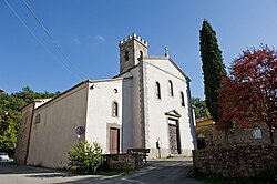
<instances>
[{"instance_id":1,"label":"tall narrow dark green cypress tree beside the church","mask_svg":"<svg viewBox=\"0 0 277 184\"><path fill-rule=\"evenodd\" d=\"M226 71L222 51L217 44L216 32L207 20L203 21L201 34L201 58L204 75L206 105L212 119L218 122L220 110L218 105L218 89Z\"/></svg>"}]
</instances>

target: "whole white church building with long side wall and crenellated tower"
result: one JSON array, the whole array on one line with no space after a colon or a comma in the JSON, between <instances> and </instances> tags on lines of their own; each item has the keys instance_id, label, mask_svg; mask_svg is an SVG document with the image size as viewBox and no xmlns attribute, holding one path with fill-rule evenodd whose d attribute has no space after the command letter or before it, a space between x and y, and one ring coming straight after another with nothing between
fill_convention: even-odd
<instances>
[{"instance_id":1,"label":"whole white church building with long side wall and crenellated tower","mask_svg":"<svg viewBox=\"0 0 277 184\"><path fill-rule=\"evenodd\" d=\"M168 55L148 55L147 42L129 35L120 42L119 75L22 108L14 162L66 167L68 151L84 140L99 142L105 154L150 149L150 159L191 156L196 137L189 81Z\"/></svg>"}]
</instances>

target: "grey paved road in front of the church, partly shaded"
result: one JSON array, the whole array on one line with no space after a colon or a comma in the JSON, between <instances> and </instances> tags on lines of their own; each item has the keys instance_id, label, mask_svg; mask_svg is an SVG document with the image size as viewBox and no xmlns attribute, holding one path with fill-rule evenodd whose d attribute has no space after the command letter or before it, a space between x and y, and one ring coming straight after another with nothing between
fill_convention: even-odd
<instances>
[{"instance_id":1,"label":"grey paved road in front of the church, partly shaded","mask_svg":"<svg viewBox=\"0 0 277 184\"><path fill-rule=\"evenodd\" d=\"M142 168L125 176L83 176L57 170L0 163L0 184L204 184L186 177L191 167L191 159L171 159L150 161Z\"/></svg>"}]
</instances>

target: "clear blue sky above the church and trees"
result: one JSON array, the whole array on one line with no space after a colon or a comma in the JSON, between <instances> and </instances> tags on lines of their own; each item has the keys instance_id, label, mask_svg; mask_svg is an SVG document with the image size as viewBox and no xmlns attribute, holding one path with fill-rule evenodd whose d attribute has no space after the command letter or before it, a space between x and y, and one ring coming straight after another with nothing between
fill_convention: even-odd
<instances>
[{"instance_id":1,"label":"clear blue sky above the church and trees","mask_svg":"<svg viewBox=\"0 0 277 184\"><path fill-rule=\"evenodd\" d=\"M0 88L17 92L65 91L82 80L58 52L21 0L6 0L51 51L47 51L0 0ZM171 58L192 79L192 95L204 99L199 29L207 19L217 33L226 67L260 43L276 47L277 0L25 0L83 79L119 73L119 41L136 32L150 55ZM53 57L54 55L54 57ZM59 59L59 61L55 60ZM68 64L69 65L69 64ZM69 67L68 67L69 68Z\"/></svg>"}]
</instances>

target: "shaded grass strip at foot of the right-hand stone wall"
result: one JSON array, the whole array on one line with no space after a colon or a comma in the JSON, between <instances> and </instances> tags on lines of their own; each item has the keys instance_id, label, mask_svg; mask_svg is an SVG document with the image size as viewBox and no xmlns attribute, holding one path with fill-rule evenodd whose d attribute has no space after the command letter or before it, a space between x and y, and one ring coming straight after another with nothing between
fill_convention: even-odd
<instances>
[{"instance_id":1,"label":"shaded grass strip at foot of the right-hand stone wall","mask_svg":"<svg viewBox=\"0 0 277 184\"><path fill-rule=\"evenodd\" d=\"M222 175L216 173L204 173L198 168L192 168L188 172L188 177L193 177L211 184L275 184L276 183L273 175L270 174L265 175L265 173L260 173L256 177L240 177L240 176L223 177Z\"/></svg>"}]
</instances>

